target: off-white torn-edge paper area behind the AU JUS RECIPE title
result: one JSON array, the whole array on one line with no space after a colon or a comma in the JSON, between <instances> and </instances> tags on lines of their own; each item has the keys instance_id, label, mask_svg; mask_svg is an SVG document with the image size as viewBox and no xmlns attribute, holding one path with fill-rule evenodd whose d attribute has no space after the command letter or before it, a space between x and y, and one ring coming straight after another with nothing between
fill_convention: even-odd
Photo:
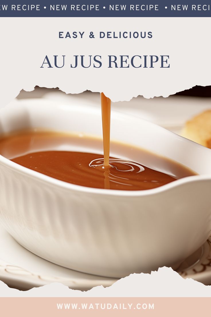
<instances>
[{"instance_id":1,"label":"off-white torn-edge paper area behind the AU JUS RECIPE title","mask_svg":"<svg viewBox=\"0 0 211 317\"><path fill-rule=\"evenodd\" d=\"M1 18L1 106L21 89L59 87L104 92L112 101L167 97L211 84L210 18ZM85 31L59 39L59 31ZM89 38L89 32L95 39ZM152 31L152 39L99 39L99 31ZM64 68L40 68L45 56L66 55ZM73 55L170 55L170 68L70 68Z\"/></svg>"}]
</instances>

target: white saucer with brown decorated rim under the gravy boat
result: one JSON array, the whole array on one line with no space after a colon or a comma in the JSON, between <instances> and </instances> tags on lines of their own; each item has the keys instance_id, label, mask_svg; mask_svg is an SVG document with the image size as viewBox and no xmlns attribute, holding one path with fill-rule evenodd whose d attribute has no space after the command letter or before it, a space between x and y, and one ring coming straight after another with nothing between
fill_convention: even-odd
<instances>
[{"instance_id":1,"label":"white saucer with brown decorated rim under the gravy boat","mask_svg":"<svg viewBox=\"0 0 211 317\"><path fill-rule=\"evenodd\" d=\"M211 237L184 261L178 273L205 285L211 284ZM108 287L116 279L85 274L48 262L18 244L0 226L0 280L9 287L27 290L53 282L69 288L88 290L95 286Z\"/></svg>"}]
</instances>

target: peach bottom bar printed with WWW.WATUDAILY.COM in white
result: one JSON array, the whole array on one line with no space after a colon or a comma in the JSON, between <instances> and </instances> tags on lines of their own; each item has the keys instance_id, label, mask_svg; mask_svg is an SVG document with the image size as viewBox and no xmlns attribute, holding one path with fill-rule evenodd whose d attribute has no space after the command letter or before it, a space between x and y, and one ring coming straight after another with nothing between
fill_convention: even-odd
<instances>
[{"instance_id":1,"label":"peach bottom bar printed with WWW.WATUDAILY.COM in white","mask_svg":"<svg viewBox=\"0 0 211 317\"><path fill-rule=\"evenodd\" d=\"M202 316L209 297L0 298L1 316Z\"/></svg>"}]
</instances>

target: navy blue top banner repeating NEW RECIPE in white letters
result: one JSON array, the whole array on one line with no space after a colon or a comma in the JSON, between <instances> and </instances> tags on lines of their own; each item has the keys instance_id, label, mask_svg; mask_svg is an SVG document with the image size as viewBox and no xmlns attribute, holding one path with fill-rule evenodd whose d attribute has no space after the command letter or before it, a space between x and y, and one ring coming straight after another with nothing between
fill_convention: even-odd
<instances>
[{"instance_id":1,"label":"navy blue top banner repeating NEW RECIPE in white letters","mask_svg":"<svg viewBox=\"0 0 211 317\"><path fill-rule=\"evenodd\" d=\"M1 0L0 17L210 17L211 1Z\"/></svg>"}]
</instances>

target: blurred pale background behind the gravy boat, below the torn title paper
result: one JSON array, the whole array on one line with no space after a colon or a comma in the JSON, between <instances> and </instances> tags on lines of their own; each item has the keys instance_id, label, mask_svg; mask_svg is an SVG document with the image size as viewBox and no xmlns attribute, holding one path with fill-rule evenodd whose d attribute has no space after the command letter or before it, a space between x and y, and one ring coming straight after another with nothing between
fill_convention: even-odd
<instances>
[{"instance_id":1,"label":"blurred pale background behind the gravy boat, below the torn title paper","mask_svg":"<svg viewBox=\"0 0 211 317\"><path fill-rule=\"evenodd\" d=\"M83 104L100 107L100 94L85 91L81 94L65 94L59 88L35 87L31 92L21 91L17 100L44 98L61 104ZM184 123L202 111L211 109L211 86L195 86L167 98L142 96L130 101L112 103L112 109L135 115L180 134Z\"/></svg>"}]
</instances>

